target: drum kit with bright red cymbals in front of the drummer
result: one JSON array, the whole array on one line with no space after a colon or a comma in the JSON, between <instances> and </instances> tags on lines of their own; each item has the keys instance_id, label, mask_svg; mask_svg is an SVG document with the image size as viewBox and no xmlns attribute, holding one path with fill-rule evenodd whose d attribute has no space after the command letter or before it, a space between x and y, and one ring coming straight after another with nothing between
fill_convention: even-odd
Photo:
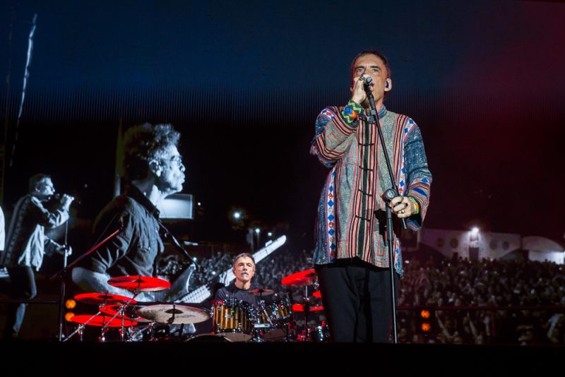
<instances>
[{"instance_id":1,"label":"drum kit with bright red cymbals in front of the drummer","mask_svg":"<svg viewBox=\"0 0 565 377\"><path fill-rule=\"evenodd\" d=\"M276 342L276 341L328 341L328 328L322 323L316 328L308 328L310 312L323 311L323 306L309 304L308 288L318 288L314 270L305 270L288 275L281 281L289 287L304 287L303 304L292 304L289 294L275 294L272 289L251 289L248 293L256 297L256 305L239 299L215 301L210 310L185 304L150 304L141 306L135 300L140 292L157 292L168 289L170 283L158 277L126 275L112 277L108 284L126 289L133 297L107 293L83 293L74 298L83 304L97 305L94 315L76 315L70 321L77 324L76 330L66 337L70 340L79 335L83 340L86 326L100 328L98 340L104 342L110 329L116 328L119 340L136 342L140 340L172 340L169 325L202 323L212 320L209 334L191 336L183 341L225 341L225 342ZM314 292L314 297L319 292ZM295 314L296 313L296 314ZM297 335L295 315L302 314L304 330Z\"/></svg>"}]
</instances>

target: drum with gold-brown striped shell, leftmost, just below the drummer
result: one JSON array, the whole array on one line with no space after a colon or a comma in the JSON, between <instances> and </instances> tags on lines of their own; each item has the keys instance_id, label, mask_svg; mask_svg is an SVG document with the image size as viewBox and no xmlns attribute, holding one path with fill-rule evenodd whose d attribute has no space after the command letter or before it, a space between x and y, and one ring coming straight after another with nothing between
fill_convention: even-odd
<instances>
[{"instance_id":1,"label":"drum with gold-brown striped shell, leftmost, just below the drummer","mask_svg":"<svg viewBox=\"0 0 565 377\"><path fill-rule=\"evenodd\" d=\"M216 301L213 310L213 331L232 342L246 342L251 339L251 318L249 304L242 300Z\"/></svg>"}]
</instances>

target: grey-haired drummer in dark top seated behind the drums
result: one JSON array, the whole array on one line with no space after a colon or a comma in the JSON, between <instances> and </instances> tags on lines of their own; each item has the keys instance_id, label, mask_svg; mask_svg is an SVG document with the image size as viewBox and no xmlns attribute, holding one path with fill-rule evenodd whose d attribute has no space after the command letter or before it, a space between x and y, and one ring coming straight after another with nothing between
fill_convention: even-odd
<instances>
[{"instance_id":1,"label":"grey-haired drummer in dark top seated behind the drums","mask_svg":"<svg viewBox=\"0 0 565 377\"><path fill-rule=\"evenodd\" d=\"M237 299L245 301L253 306L258 304L260 292L258 289L251 289L251 280L255 276L255 259L249 253L241 253L234 258L232 273L235 280L227 287L222 287L216 292L216 301L226 301Z\"/></svg>"}]
</instances>

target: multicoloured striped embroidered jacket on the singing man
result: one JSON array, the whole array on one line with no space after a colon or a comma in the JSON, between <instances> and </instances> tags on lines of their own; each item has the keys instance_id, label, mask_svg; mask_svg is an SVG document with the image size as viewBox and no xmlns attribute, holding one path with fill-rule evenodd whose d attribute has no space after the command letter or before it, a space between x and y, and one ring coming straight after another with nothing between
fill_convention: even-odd
<instances>
[{"instance_id":1,"label":"multicoloured striped embroidered jacket on the singing man","mask_svg":"<svg viewBox=\"0 0 565 377\"><path fill-rule=\"evenodd\" d=\"M316 119L316 136L310 152L330 168L323 186L316 220L314 263L328 264L340 258L359 257L388 268L384 235L386 207L382 194L391 188L379 136L374 124L359 116L359 104L345 109L326 107ZM420 128L408 116L379 110L384 143L401 196L411 196L420 213L407 219L418 230L426 215L432 174L427 166ZM403 275L400 222L395 216L394 266Z\"/></svg>"}]
</instances>

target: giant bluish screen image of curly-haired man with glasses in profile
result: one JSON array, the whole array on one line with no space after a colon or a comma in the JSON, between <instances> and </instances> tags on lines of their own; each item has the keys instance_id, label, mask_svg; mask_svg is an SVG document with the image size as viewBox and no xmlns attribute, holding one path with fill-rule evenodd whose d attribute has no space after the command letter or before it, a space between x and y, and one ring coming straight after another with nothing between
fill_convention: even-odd
<instances>
[{"instance_id":1,"label":"giant bluish screen image of curly-haired man with glasses in profile","mask_svg":"<svg viewBox=\"0 0 565 377\"><path fill-rule=\"evenodd\" d=\"M131 297L128 291L109 285L109 278L153 276L155 258L164 250L157 203L182 191L184 183L184 164L177 149L179 138L180 133L170 124L141 124L126 131L125 192L97 216L94 234L103 239L123 229L73 268L73 281L85 292ZM149 292L141 292L136 299L153 301Z\"/></svg>"}]
</instances>

